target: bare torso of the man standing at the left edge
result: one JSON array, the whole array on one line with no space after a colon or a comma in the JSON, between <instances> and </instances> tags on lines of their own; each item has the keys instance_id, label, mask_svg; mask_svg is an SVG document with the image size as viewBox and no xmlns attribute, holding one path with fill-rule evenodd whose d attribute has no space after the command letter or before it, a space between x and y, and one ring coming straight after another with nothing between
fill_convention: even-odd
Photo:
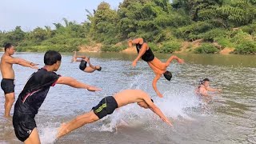
<instances>
[{"instance_id":1,"label":"bare torso of the man standing at the left edge","mask_svg":"<svg viewBox=\"0 0 256 144\"><path fill-rule=\"evenodd\" d=\"M2 78L9 78L9 79L14 79L14 69L13 69L13 64L6 62L8 59L11 59L13 57L8 56L6 54L2 55L1 58L1 73L2 73Z\"/></svg>"}]
</instances>

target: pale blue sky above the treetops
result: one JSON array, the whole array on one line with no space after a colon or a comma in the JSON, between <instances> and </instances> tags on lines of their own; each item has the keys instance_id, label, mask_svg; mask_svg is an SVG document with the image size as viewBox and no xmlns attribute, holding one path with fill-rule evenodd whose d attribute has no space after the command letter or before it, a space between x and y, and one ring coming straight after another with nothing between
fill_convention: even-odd
<instances>
[{"instance_id":1,"label":"pale blue sky above the treetops","mask_svg":"<svg viewBox=\"0 0 256 144\"><path fill-rule=\"evenodd\" d=\"M123 0L104 0L112 9L117 10ZM103 0L1 0L0 30L14 30L22 26L22 30L30 31L36 27L51 26L53 23L67 18L77 23L86 20L86 9L93 12Z\"/></svg>"}]
</instances>

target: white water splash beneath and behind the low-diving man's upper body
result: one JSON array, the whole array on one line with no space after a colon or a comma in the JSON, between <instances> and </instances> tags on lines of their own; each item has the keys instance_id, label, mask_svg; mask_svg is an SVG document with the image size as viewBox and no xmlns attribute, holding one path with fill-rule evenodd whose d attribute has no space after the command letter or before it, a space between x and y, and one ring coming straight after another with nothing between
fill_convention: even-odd
<instances>
[{"instance_id":1,"label":"white water splash beneath and behind the low-diving man's upper body","mask_svg":"<svg viewBox=\"0 0 256 144\"><path fill-rule=\"evenodd\" d=\"M135 76L134 81L130 83L130 88L145 90L146 86L142 83L143 79L145 79L145 74ZM167 118L174 121L180 118L193 120L189 115L190 110L194 107L200 106L201 103L198 97L194 94L194 88L179 84L172 84L168 87L168 90L162 92L164 98L153 98L155 105L162 110L163 114L165 114ZM148 92L150 90L146 91ZM137 104L130 104L118 108L113 114L103 118L103 124L94 128L94 130L113 132L117 130L118 126L126 126L126 124L130 126L139 126L154 121L161 122L162 120L151 110L145 110Z\"/></svg>"}]
</instances>

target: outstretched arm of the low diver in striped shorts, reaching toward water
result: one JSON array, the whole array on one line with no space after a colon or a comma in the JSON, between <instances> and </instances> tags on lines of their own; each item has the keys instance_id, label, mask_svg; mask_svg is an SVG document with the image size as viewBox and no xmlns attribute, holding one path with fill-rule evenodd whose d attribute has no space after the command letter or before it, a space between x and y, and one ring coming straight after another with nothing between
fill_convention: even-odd
<instances>
[{"instance_id":1,"label":"outstretched arm of the low diver in striped shorts, reaching toward water","mask_svg":"<svg viewBox=\"0 0 256 144\"><path fill-rule=\"evenodd\" d=\"M164 114L162 114L162 111L158 108L158 106L155 106L154 103L151 101L150 97L144 96L144 101L147 103L148 106L150 106L150 110L154 112L154 114L157 114L163 122L166 122L168 125L172 126L169 119L166 118Z\"/></svg>"}]
</instances>

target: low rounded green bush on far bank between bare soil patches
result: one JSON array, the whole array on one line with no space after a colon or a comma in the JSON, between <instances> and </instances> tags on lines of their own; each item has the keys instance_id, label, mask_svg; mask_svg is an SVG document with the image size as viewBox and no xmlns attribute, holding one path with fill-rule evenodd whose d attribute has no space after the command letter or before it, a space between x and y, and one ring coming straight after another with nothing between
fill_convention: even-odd
<instances>
[{"instance_id":1,"label":"low rounded green bush on far bank between bare soil patches","mask_svg":"<svg viewBox=\"0 0 256 144\"><path fill-rule=\"evenodd\" d=\"M196 50L194 50L195 54L214 54L219 50L210 43L203 43L202 46L199 46Z\"/></svg>"}]
</instances>

